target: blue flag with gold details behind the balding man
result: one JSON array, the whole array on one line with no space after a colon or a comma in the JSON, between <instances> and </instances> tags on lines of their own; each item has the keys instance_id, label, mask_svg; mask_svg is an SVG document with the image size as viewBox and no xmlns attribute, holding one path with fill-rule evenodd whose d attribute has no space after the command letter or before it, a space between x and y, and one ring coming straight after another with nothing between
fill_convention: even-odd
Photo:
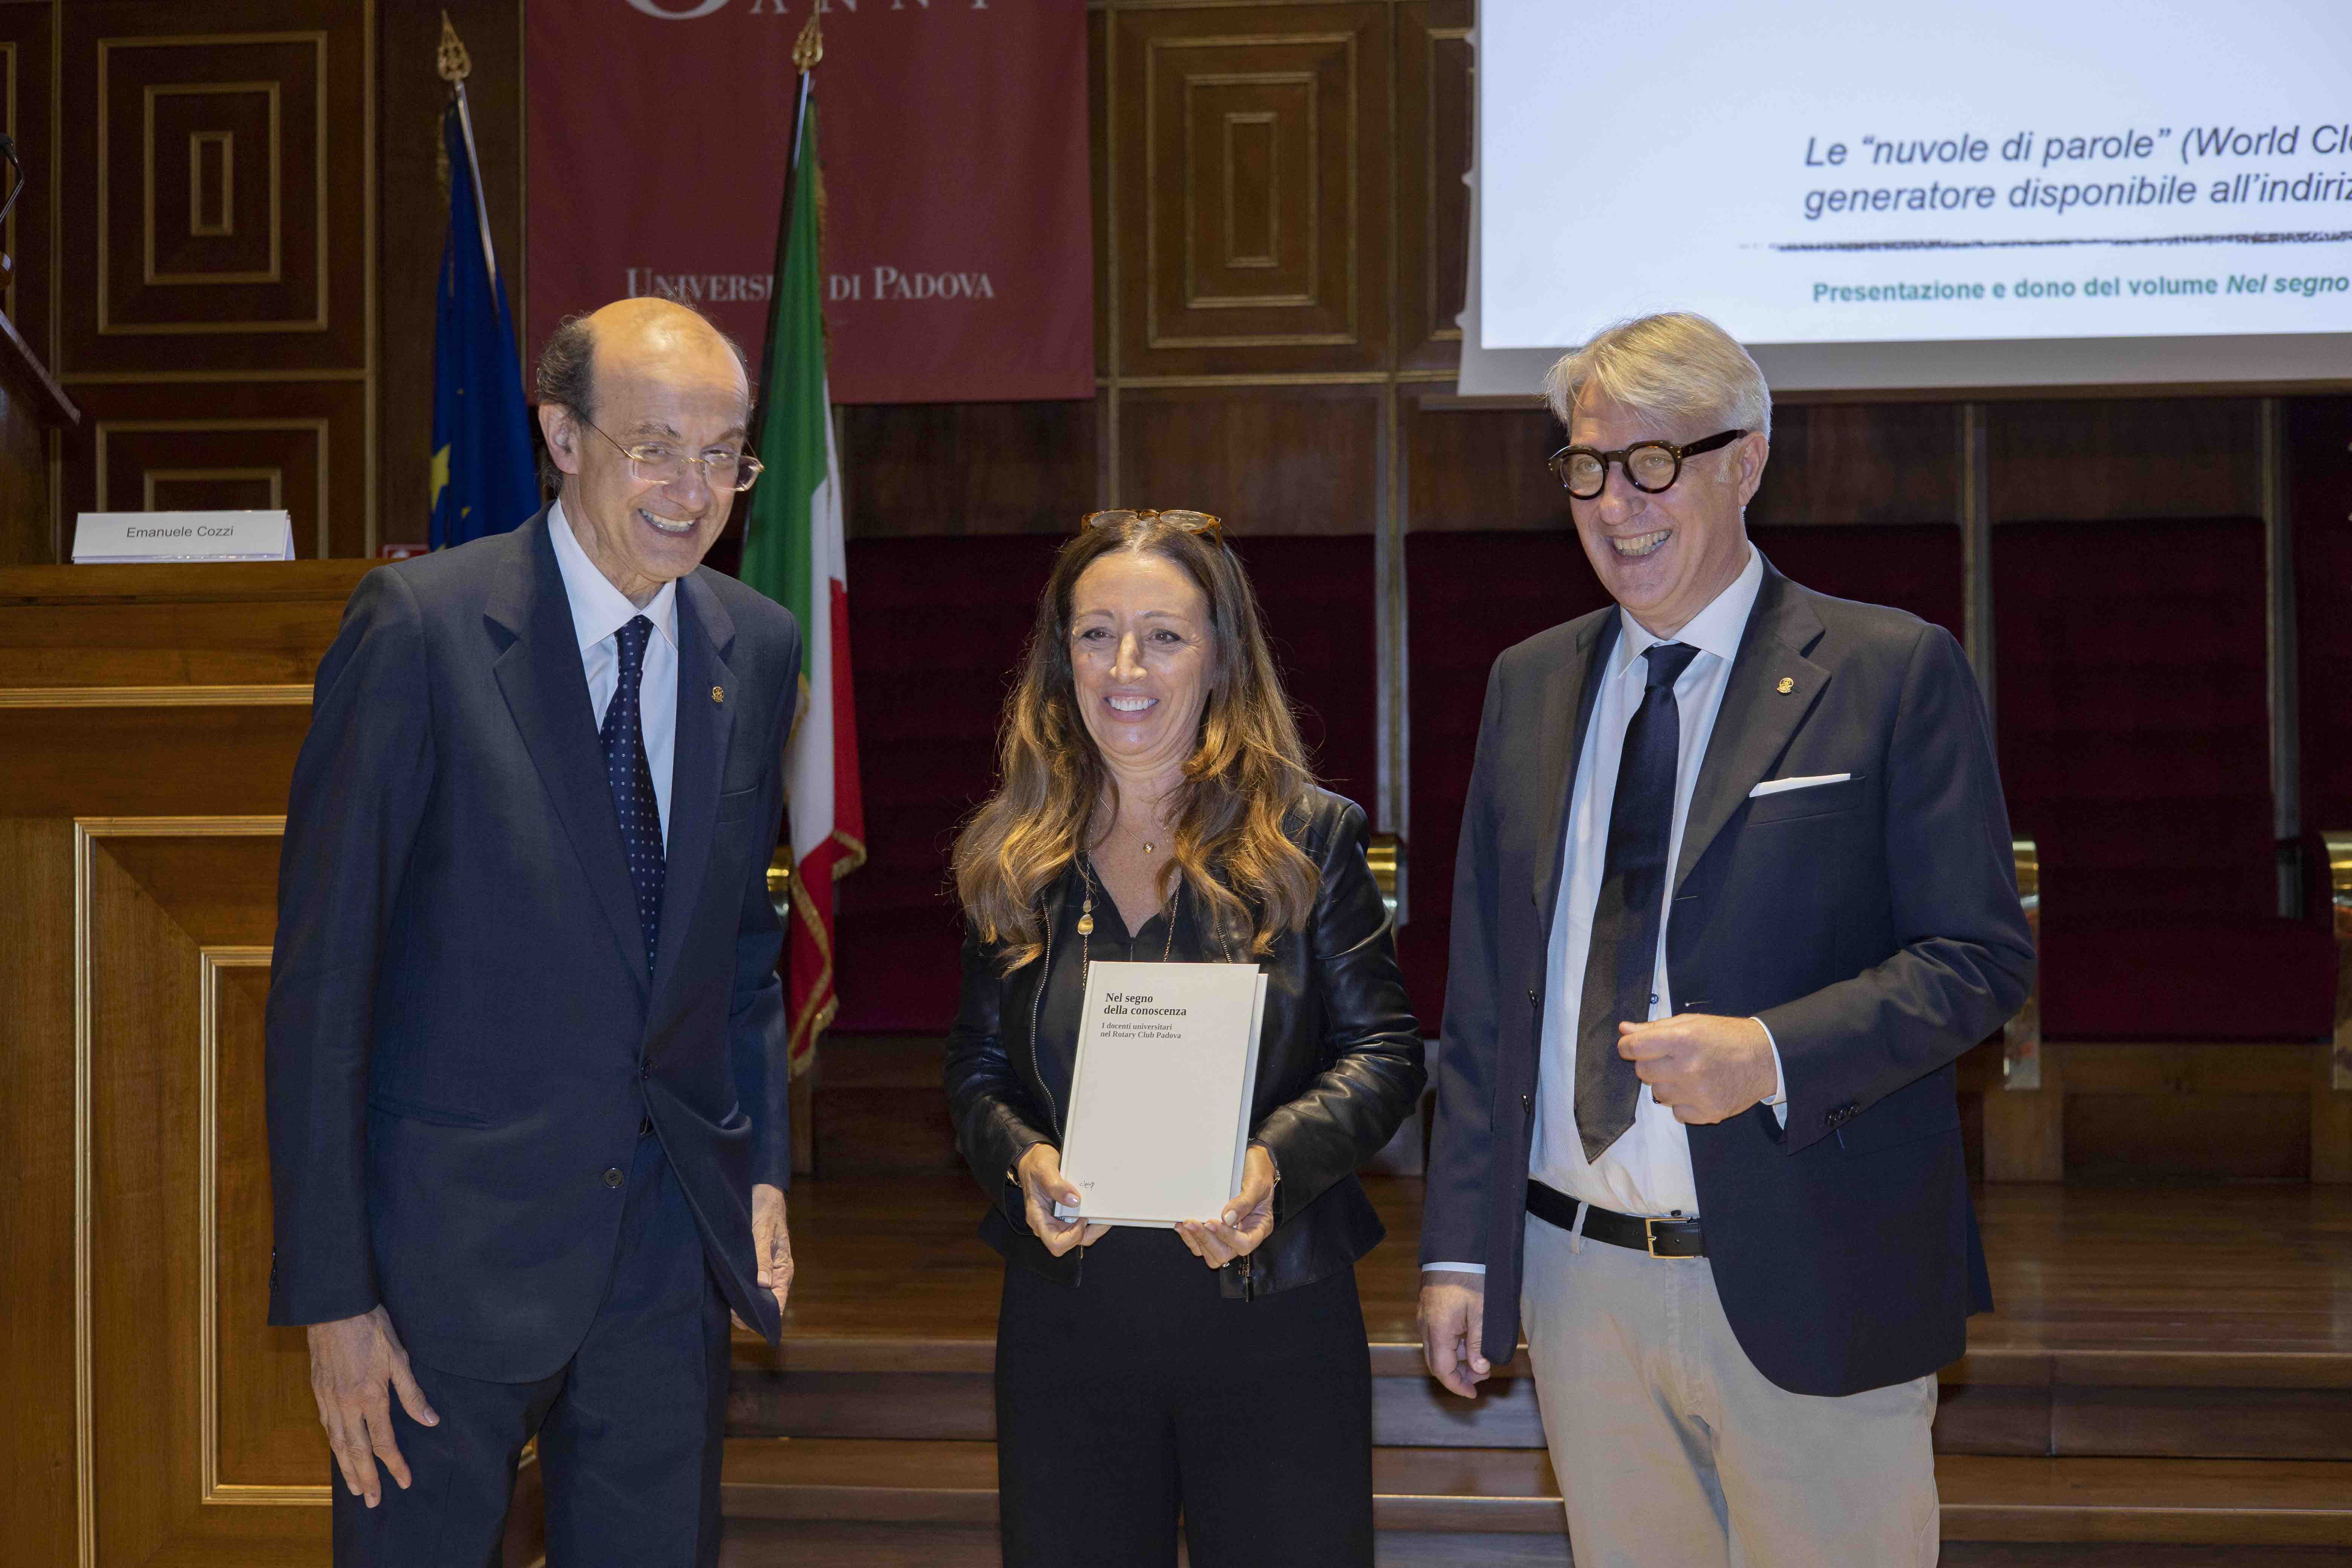
<instances>
[{"instance_id":1,"label":"blue flag with gold details behind the balding man","mask_svg":"<svg viewBox=\"0 0 2352 1568\"><path fill-rule=\"evenodd\" d=\"M433 331L435 550L503 534L539 510L515 322L489 254L463 96L442 115L442 143L449 150L449 237Z\"/></svg>"}]
</instances>

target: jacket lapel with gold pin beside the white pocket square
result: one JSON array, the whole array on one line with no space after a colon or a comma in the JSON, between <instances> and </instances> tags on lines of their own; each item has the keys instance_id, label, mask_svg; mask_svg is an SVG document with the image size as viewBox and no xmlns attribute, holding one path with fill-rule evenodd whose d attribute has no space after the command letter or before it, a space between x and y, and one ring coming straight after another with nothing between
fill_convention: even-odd
<instances>
[{"instance_id":1,"label":"jacket lapel with gold pin beside the white pocket square","mask_svg":"<svg viewBox=\"0 0 2352 1568\"><path fill-rule=\"evenodd\" d=\"M1682 853L1675 858L1675 889L1708 853L1748 790L1764 780L1790 738L1813 712L1830 672L1806 658L1820 642L1820 616L1785 576L1764 562L1764 585L1740 632L1738 658L1724 682L1724 705L1715 710L1715 733L1698 764L1691 811L1682 825ZM1788 682L1783 691L1780 684Z\"/></svg>"}]
</instances>

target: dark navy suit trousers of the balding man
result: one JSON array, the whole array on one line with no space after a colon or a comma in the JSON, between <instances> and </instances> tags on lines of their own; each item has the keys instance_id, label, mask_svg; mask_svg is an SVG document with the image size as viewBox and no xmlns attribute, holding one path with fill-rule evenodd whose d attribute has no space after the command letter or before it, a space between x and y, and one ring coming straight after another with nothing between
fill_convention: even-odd
<instances>
[{"instance_id":1,"label":"dark navy suit trousers of the balding man","mask_svg":"<svg viewBox=\"0 0 2352 1568\"><path fill-rule=\"evenodd\" d=\"M397 1324L393 1324L397 1331ZM369 1509L334 1483L336 1568L499 1561L522 1446L539 1436L548 1568L701 1568L720 1554L727 1307L659 1138L640 1138L588 1338L550 1378L477 1382L414 1363L437 1427L393 1399L412 1486Z\"/></svg>"}]
</instances>

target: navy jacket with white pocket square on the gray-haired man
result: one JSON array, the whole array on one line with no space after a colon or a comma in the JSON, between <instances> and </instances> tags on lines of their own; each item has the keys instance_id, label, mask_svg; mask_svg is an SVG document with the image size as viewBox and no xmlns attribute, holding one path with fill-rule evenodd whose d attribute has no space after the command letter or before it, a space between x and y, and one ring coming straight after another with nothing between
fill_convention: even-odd
<instances>
[{"instance_id":1,"label":"navy jacket with white pocket square on the gray-haired man","mask_svg":"<svg viewBox=\"0 0 2352 1568\"><path fill-rule=\"evenodd\" d=\"M1519 1342L1545 954L1592 675L1616 635L1611 607L1496 661L1463 813L1421 1255L1486 1265L1494 1361ZM1811 773L1853 778L1748 797ZM1689 1128L1748 1359L1790 1392L1853 1394L1959 1356L1992 1291L1952 1060L2025 999L2032 936L1985 705L1950 632L1766 562L1691 797L1665 954L1677 1011L1759 1016L1788 1077L1785 1131L1762 1105Z\"/></svg>"}]
</instances>

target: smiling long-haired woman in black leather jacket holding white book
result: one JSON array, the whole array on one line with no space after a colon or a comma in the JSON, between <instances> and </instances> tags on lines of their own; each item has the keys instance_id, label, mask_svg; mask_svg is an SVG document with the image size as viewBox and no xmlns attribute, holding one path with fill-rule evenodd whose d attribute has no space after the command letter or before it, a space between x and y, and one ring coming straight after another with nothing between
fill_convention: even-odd
<instances>
[{"instance_id":1,"label":"smiling long-haired woman in black leather jacket holding white book","mask_svg":"<svg viewBox=\"0 0 2352 1568\"><path fill-rule=\"evenodd\" d=\"M1369 1568L1371 1368L1357 1164L1421 1095L1421 1030L1364 863L1319 790L1240 559L1202 512L1096 512L1056 559L955 846L957 1147L1004 1260L1009 1568ZM1242 1190L1176 1229L1056 1220L1094 959L1268 978Z\"/></svg>"}]
</instances>

